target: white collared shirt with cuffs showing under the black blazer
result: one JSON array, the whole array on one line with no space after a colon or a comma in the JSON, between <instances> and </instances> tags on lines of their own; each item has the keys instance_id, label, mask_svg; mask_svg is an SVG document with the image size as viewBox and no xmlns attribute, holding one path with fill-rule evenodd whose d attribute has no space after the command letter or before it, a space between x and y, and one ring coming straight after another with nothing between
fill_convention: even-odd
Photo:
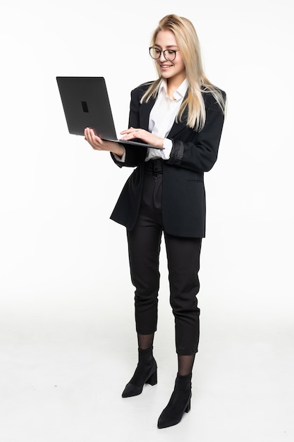
<instances>
[{"instance_id":1,"label":"white collared shirt with cuffs showing under the black blazer","mask_svg":"<svg viewBox=\"0 0 294 442\"><path fill-rule=\"evenodd\" d=\"M183 102L187 89L188 81L185 79L178 89L173 92L173 100L167 95L166 80L161 81L157 100L149 115L148 130L149 132L154 133L154 135L164 138L164 149L148 148L145 161L148 161L151 158L163 158L164 160L169 160L171 149L173 148L173 142L166 137L171 131L176 119L176 114L178 113L178 109L180 109L180 104ZM125 153L122 157L118 157L117 155L115 155L115 157L118 161L125 162Z\"/></svg>"}]
</instances>

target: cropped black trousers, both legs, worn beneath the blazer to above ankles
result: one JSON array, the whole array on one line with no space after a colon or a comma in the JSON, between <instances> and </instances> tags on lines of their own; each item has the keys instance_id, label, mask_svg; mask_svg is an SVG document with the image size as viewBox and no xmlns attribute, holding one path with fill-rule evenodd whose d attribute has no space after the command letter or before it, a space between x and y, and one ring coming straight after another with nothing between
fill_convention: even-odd
<instances>
[{"instance_id":1,"label":"cropped black trousers, both legs, worn beneath the blazer to above ankles","mask_svg":"<svg viewBox=\"0 0 294 442\"><path fill-rule=\"evenodd\" d=\"M176 352L195 354L199 342L197 293L200 283L201 238L174 237L164 232L161 217L161 160L145 165L145 185L137 223L127 230L130 275L135 286L137 333L157 330L159 252L164 233L169 268L170 303L175 318Z\"/></svg>"}]
</instances>

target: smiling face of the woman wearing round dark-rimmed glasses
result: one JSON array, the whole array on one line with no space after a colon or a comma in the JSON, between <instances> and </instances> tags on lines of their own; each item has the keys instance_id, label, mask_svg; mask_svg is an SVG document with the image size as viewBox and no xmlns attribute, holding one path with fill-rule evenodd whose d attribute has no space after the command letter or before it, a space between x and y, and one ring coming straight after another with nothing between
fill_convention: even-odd
<instances>
[{"instance_id":1,"label":"smiling face of the woman wearing round dark-rimmed glasses","mask_svg":"<svg viewBox=\"0 0 294 442\"><path fill-rule=\"evenodd\" d=\"M173 49L176 52L176 58L173 61L166 60L164 58L163 52L161 52L159 59L157 59L157 65L159 66L161 75L166 78L169 85L173 84L178 87L180 83L185 80L185 64L183 62L182 55L178 44L176 42L176 37L171 32L171 30L161 30L157 34L154 47L159 50L164 51L165 49ZM169 54L166 53L167 58ZM173 57L171 57L173 58Z\"/></svg>"}]
</instances>

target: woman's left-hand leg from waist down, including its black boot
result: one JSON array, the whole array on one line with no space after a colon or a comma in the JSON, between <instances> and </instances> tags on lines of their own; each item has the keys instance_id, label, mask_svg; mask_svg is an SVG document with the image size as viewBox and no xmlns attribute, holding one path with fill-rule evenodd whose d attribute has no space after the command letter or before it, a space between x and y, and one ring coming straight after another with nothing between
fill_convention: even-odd
<instances>
[{"instance_id":1,"label":"woman's left-hand leg from waist down, including its black boot","mask_svg":"<svg viewBox=\"0 0 294 442\"><path fill-rule=\"evenodd\" d=\"M135 228L128 231L130 275L135 286L135 323L139 362L133 378L123 391L123 398L142 393L145 383L157 383L157 364L152 354L157 329L159 291L159 252L162 229L160 212L154 202L161 191L161 180L145 179L139 217ZM156 196L156 198L154 198Z\"/></svg>"}]
</instances>

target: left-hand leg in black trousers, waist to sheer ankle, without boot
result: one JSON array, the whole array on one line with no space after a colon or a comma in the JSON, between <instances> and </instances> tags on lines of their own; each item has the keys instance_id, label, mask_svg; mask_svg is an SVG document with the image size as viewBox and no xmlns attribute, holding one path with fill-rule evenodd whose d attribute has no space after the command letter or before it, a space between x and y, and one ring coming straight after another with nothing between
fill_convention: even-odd
<instances>
[{"instance_id":1,"label":"left-hand leg in black trousers, waist to sheer ankle, without boot","mask_svg":"<svg viewBox=\"0 0 294 442\"><path fill-rule=\"evenodd\" d=\"M161 244L162 177L145 175L140 212L133 230L128 230L130 276L135 286L135 322L139 346L152 345L157 329L159 291L159 252ZM145 335L145 338L142 336Z\"/></svg>"}]
</instances>

